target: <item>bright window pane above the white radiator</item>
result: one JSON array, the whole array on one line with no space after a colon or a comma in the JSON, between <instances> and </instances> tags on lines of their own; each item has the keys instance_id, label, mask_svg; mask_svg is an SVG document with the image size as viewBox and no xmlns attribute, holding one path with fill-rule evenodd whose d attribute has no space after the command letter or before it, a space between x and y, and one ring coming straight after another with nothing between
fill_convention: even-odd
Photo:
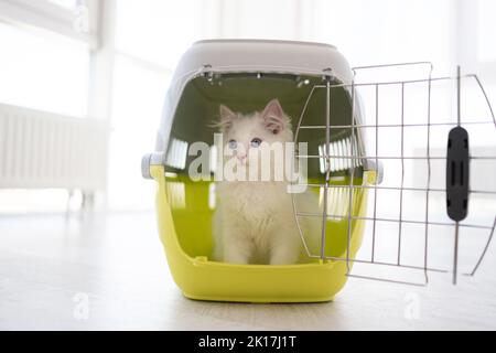
<instances>
[{"instance_id":1,"label":"bright window pane above the white radiator","mask_svg":"<svg viewBox=\"0 0 496 353\"><path fill-rule=\"evenodd\" d=\"M87 114L89 53L80 42L0 22L0 43L1 103Z\"/></svg>"}]
</instances>

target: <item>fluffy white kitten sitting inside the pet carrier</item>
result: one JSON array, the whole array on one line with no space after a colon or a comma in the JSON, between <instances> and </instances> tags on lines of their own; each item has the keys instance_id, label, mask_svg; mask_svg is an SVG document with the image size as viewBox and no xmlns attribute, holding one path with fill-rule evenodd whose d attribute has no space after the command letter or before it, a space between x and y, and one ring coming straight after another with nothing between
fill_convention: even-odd
<instances>
[{"instance_id":1,"label":"fluffy white kitten sitting inside the pet carrier","mask_svg":"<svg viewBox=\"0 0 496 353\"><path fill-rule=\"evenodd\" d=\"M290 118L278 99L272 99L263 111L250 115L234 113L220 106L220 127L227 148L235 150L228 160L246 168L258 162L256 152L274 142L291 142ZM280 160L272 161L272 169ZM279 165L280 167L280 165ZM215 260L233 264L295 264L303 252L291 194L285 181L220 181L216 184L217 210L214 216ZM301 197L303 196L303 197ZM314 193L299 195L303 203L316 205ZM309 206L306 206L308 208ZM319 220L319 217L315 217ZM319 222L301 224L317 227ZM308 231L308 229L306 229ZM317 234L316 228L312 232Z\"/></svg>"}]
</instances>

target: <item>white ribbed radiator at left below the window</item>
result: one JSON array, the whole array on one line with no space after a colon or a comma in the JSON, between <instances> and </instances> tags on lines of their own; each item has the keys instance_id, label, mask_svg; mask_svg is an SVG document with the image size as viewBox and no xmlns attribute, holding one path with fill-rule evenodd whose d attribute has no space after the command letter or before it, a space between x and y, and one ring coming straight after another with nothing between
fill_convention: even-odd
<instances>
[{"instance_id":1,"label":"white ribbed radiator at left below the window","mask_svg":"<svg viewBox=\"0 0 496 353\"><path fill-rule=\"evenodd\" d=\"M0 104L0 189L106 189L104 121Z\"/></svg>"}]
</instances>

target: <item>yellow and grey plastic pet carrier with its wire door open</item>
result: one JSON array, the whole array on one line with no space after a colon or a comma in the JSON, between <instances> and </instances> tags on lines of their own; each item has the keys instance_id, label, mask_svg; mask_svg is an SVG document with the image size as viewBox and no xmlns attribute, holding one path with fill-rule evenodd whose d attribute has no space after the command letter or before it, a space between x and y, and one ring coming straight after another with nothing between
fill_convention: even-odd
<instances>
[{"instance_id":1,"label":"yellow and grey plastic pet carrier with its wire door open","mask_svg":"<svg viewBox=\"0 0 496 353\"><path fill-rule=\"evenodd\" d=\"M399 122L381 124L378 114L379 88L381 84L398 85L402 89L403 111L405 87L409 83L421 83L428 87L428 121L411 126L430 130L435 125L430 119L431 84L435 78L429 74L423 79L357 83L356 72L371 67L352 69L334 46L305 42L201 41L183 55L165 98L155 152L143 157L142 174L154 179L158 184L160 238L172 276L184 296L192 299L244 302L328 301L343 288L347 277L353 276L352 268L355 264L418 269L425 275L425 280L428 271L436 270L429 266L427 255L429 225L436 224L429 220L432 213L429 211L429 194L442 191L449 195L448 210L453 221L444 221L444 224L455 228L457 239L459 228L464 225L461 221L466 215L467 197L473 191L467 186L471 157L467 135L464 135L466 131L461 127L460 119L440 122L445 127L459 127L459 130L450 133L448 154L430 156L428 137L427 157L405 156L403 131L408 126L405 114L401 114ZM460 81L460 75L457 78ZM357 89L360 86L371 87L373 92L375 89L375 124L365 122L363 96ZM306 165L306 179L303 182L293 181L293 184L304 185L315 194L316 208L304 208L299 202L299 194L291 194L304 258L293 265L237 265L212 260L213 217L218 203L223 202L216 197L214 178L219 152L211 148L208 170L202 178L192 178L188 171L198 153L192 147L196 142L207 147L215 146L212 122L218 117L220 105L247 114L260 111L272 98L279 99L291 118L294 142L306 143L304 152L295 151L296 162L304 161ZM490 124L490 129L495 129L494 118L483 122ZM397 154L380 156L377 149L379 128L388 127L401 130L400 156L399 151ZM375 137L371 143L366 140L370 136ZM448 141L448 135L443 135L443 139ZM448 172L456 174L453 181L448 181L451 186L435 189L429 184L430 180L423 186L409 188L406 184L405 163L425 161L425 172L430 175L430 162L435 159L443 160L450 168ZM487 154L481 159L494 160ZM395 173L401 175L401 183L382 186L381 180L390 160L402 163L398 172L392 167ZM384 170L382 162L386 165ZM422 168L416 167L417 170ZM461 175L461 180L457 175ZM379 191L384 190L400 192L399 217L386 220L377 214L377 204L381 200ZM408 200L406 194L409 191L425 194L427 210L421 220L406 220L401 211L406 203L403 197ZM496 194L492 190L478 192L489 197ZM300 227L302 220L306 218L321 220L317 248L309 245L309 235ZM398 246L398 261L380 260L374 243L376 233L379 232L376 232L376 222L399 224L399 240L403 225L419 224L424 227L421 232L421 238L425 240L422 264L402 263L401 245ZM482 228L489 234L484 255L494 224L467 226ZM373 255L370 259L358 259L356 255L366 227L371 229Z\"/></svg>"}]
</instances>

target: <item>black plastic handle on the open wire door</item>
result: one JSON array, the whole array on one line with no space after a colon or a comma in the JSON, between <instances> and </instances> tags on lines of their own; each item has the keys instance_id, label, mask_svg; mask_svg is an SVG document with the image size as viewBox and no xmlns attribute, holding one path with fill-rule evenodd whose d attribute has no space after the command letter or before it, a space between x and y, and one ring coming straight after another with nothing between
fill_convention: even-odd
<instances>
[{"instance_id":1,"label":"black plastic handle on the open wire door","mask_svg":"<svg viewBox=\"0 0 496 353\"><path fill-rule=\"evenodd\" d=\"M446 150L446 211L453 221L468 212L468 132L457 126L450 130Z\"/></svg>"}]
</instances>

